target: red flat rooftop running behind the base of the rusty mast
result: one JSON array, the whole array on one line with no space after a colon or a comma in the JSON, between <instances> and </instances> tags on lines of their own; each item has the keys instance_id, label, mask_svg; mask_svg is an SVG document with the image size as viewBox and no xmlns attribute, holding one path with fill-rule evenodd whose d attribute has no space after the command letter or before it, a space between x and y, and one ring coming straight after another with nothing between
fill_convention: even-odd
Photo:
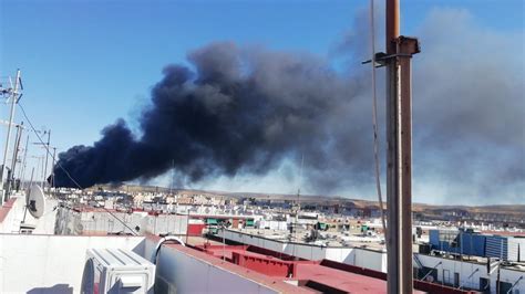
<instances>
[{"instance_id":1,"label":"red flat rooftop running behind the base of the rusty mast","mask_svg":"<svg viewBox=\"0 0 525 294\"><path fill-rule=\"evenodd\" d=\"M253 245L205 244L193 249L270 279L294 281L301 288L325 293L387 293L387 274L364 267L330 260L294 261L286 254ZM416 293L475 293L424 281L414 281L414 290Z\"/></svg>"}]
</instances>

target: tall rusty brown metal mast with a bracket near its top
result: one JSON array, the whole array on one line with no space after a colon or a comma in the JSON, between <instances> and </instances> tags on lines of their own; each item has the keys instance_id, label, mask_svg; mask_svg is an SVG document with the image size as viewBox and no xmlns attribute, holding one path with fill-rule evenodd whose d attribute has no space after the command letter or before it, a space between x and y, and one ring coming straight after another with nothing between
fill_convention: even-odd
<instances>
[{"instance_id":1,"label":"tall rusty brown metal mast with a bracket near its top","mask_svg":"<svg viewBox=\"0 0 525 294\"><path fill-rule=\"evenodd\" d=\"M412 54L414 38L400 35L399 0L387 0L387 254L388 292L412 293Z\"/></svg>"}]
</instances>

